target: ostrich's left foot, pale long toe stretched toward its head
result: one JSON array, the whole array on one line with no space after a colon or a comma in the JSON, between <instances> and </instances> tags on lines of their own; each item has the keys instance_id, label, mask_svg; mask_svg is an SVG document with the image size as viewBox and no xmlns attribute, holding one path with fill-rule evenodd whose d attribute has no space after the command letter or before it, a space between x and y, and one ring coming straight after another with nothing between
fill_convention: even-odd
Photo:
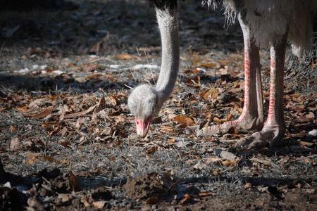
<instances>
[{"instance_id":1,"label":"ostrich's left foot, pale long toe stretched toward its head","mask_svg":"<svg viewBox=\"0 0 317 211\"><path fill-rule=\"evenodd\" d=\"M246 129L249 131L259 131L263 127L263 120L259 117L246 117L242 115L234 121L224 122L209 127L203 127L197 132L198 136L211 136L213 134L225 134L230 129Z\"/></svg>"}]
</instances>

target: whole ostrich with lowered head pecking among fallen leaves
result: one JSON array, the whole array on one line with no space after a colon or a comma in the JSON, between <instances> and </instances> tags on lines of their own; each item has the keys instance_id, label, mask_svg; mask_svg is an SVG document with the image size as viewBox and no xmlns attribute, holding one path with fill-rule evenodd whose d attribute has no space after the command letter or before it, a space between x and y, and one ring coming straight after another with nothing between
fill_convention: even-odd
<instances>
[{"instance_id":1,"label":"whole ostrich with lowered head pecking among fallen leaves","mask_svg":"<svg viewBox=\"0 0 317 211\"><path fill-rule=\"evenodd\" d=\"M146 136L152 118L173 91L179 69L177 1L154 0L162 45L161 71L156 87L142 84L132 90L128 107L135 115L137 134ZM283 77L287 40L299 55L309 45L313 0L203 0L203 4L223 4L228 20L235 16L244 38L244 107L237 120L204 127L197 135L228 132L232 127L254 131L238 141L243 148L280 145L285 134L283 117ZM259 48L271 52L271 82L268 117L264 122Z\"/></svg>"}]
</instances>

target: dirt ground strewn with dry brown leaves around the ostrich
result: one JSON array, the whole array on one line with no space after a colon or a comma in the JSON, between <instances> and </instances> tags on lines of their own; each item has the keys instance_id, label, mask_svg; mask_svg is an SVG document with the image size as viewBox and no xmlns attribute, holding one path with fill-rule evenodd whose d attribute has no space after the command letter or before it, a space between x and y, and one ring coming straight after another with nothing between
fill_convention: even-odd
<instances>
[{"instance_id":1,"label":"dirt ground strewn with dry brown leaves around the ostrich","mask_svg":"<svg viewBox=\"0 0 317 211\"><path fill-rule=\"evenodd\" d=\"M317 210L316 60L287 61L280 148L198 137L242 111L243 44L220 9L187 1L178 82L141 139L127 98L159 75L153 8L56 2L1 9L0 210ZM267 109L265 49L261 64Z\"/></svg>"}]
</instances>

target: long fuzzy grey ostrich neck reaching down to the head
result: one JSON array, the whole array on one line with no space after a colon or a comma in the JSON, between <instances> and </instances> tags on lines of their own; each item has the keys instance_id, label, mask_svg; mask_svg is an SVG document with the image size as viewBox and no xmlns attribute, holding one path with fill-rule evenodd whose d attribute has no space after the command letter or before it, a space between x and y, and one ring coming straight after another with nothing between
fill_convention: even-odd
<instances>
[{"instance_id":1,"label":"long fuzzy grey ostrich neck reaching down to the head","mask_svg":"<svg viewBox=\"0 0 317 211\"><path fill-rule=\"evenodd\" d=\"M172 94L178 68L180 65L180 43L178 40L178 15L173 11L156 8L162 44L162 60L156 91L159 93L160 104L168 100ZM160 105L161 106L161 105Z\"/></svg>"}]
</instances>

